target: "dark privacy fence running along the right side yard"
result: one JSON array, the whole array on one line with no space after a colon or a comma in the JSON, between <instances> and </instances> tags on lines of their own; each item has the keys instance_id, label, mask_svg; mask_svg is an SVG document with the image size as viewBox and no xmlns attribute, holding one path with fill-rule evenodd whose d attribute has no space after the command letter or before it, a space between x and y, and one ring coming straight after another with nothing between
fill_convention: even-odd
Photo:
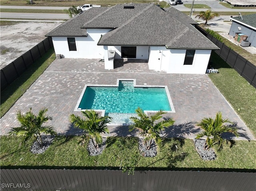
<instances>
[{"instance_id":1,"label":"dark privacy fence running along the right side yard","mask_svg":"<svg viewBox=\"0 0 256 191\"><path fill-rule=\"evenodd\" d=\"M224 43L218 41L200 26L196 28L203 33L210 41L216 44L220 49L215 52L226 62L230 67L234 68L242 77L244 77L250 85L256 88L256 66L240 56L238 53L230 49Z\"/></svg>"}]
</instances>

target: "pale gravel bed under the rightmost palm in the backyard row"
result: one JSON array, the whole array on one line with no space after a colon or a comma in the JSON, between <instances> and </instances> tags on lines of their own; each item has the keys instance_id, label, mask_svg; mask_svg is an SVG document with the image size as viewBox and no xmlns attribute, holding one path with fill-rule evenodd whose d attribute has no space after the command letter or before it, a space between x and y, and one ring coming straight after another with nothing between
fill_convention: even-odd
<instances>
[{"instance_id":1,"label":"pale gravel bed under the rightmost palm in the backyard row","mask_svg":"<svg viewBox=\"0 0 256 191\"><path fill-rule=\"evenodd\" d=\"M214 160L216 159L216 154L212 148L208 150L204 150L204 145L206 143L206 140L204 139L193 139L196 151L198 152L199 156L203 160Z\"/></svg>"}]
</instances>

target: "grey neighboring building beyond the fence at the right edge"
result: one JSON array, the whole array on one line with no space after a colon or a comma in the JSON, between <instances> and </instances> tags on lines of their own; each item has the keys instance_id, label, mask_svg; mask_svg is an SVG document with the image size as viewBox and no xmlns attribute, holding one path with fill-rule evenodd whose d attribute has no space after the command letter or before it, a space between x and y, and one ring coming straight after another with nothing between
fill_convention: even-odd
<instances>
[{"instance_id":1,"label":"grey neighboring building beyond the fence at the right edge","mask_svg":"<svg viewBox=\"0 0 256 191\"><path fill-rule=\"evenodd\" d=\"M256 14L232 17L230 20L232 25L228 34L235 37L236 33L242 33L247 36L250 46L256 47Z\"/></svg>"}]
</instances>

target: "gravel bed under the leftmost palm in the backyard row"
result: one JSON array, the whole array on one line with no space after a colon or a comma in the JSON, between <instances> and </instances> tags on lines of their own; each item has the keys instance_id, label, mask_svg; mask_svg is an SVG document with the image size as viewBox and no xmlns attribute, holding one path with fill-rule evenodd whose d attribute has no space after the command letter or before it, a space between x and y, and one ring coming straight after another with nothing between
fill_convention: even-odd
<instances>
[{"instance_id":1,"label":"gravel bed under the leftmost palm in the backyard row","mask_svg":"<svg viewBox=\"0 0 256 191\"><path fill-rule=\"evenodd\" d=\"M41 147L37 141L33 143L33 145L30 147L30 151L34 154L42 154L50 147L54 140L55 136L48 136L48 135L43 135L42 136L42 142L43 146ZM37 140L40 142L40 138L38 137Z\"/></svg>"}]
</instances>

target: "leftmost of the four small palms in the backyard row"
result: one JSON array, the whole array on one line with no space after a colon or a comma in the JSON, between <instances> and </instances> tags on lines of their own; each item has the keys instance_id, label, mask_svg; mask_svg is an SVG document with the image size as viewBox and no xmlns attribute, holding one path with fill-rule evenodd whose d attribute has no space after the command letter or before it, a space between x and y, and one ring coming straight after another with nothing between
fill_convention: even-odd
<instances>
[{"instance_id":1,"label":"leftmost of the four small palms in the backyard row","mask_svg":"<svg viewBox=\"0 0 256 191\"><path fill-rule=\"evenodd\" d=\"M32 112L32 108L29 108L25 114L18 110L16 118L20 122L20 127L12 128L9 134L24 136L22 143L34 136L38 145L42 147L44 144L42 142L42 134L56 135L56 131L52 126L43 126L45 122L52 120L52 117L46 116L47 111L48 109L43 108L39 111L38 115L35 115Z\"/></svg>"}]
</instances>

